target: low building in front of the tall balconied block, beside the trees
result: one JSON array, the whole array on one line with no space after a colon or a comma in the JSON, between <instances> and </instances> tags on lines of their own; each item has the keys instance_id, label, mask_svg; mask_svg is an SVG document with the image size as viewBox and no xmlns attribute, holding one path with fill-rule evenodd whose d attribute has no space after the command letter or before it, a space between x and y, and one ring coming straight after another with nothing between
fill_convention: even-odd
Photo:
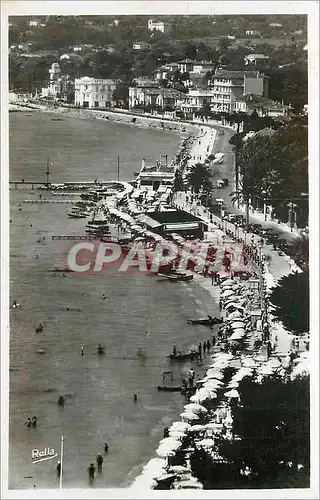
<instances>
[{"instance_id":1,"label":"low building in front of the tall balconied block, beside the trees","mask_svg":"<svg viewBox=\"0 0 320 500\"><path fill-rule=\"evenodd\" d=\"M270 116L271 118L286 116L290 110L290 106L286 104L254 94L246 94L238 97L234 104L234 110L237 113L243 112L251 115L256 111L259 116Z\"/></svg>"}]
</instances>

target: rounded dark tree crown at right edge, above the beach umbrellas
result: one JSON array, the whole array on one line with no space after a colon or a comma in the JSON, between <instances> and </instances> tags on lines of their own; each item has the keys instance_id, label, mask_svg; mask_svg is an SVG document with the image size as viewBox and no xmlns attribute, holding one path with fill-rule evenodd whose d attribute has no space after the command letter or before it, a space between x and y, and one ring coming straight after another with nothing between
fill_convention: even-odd
<instances>
[{"instance_id":1,"label":"rounded dark tree crown at right edge, above the beach umbrellas","mask_svg":"<svg viewBox=\"0 0 320 500\"><path fill-rule=\"evenodd\" d=\"M273 289L270 302L273 311L287 330L295 334L309 331L309 274L284 276Z\"/></svg>"}]
</instances>

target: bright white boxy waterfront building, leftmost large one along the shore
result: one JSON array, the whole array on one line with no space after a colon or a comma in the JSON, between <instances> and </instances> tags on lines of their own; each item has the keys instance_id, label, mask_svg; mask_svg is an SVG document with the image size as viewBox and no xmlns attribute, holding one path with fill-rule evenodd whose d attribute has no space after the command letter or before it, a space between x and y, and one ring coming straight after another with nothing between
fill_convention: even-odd
<instances>
[{"instance_id":1,"label":"bright white boxy waterfront building, leftmost large one along the shore","mask_svg":"<svg viewBox=\"0 0 320 500\"><path fill-rule=\"evenodd\" d=\"M113 102L113 92L116 86L116 80L104 80L88 76L76 78L75 105L84 108L110 107Z\"/></svg>"}]
</instances>

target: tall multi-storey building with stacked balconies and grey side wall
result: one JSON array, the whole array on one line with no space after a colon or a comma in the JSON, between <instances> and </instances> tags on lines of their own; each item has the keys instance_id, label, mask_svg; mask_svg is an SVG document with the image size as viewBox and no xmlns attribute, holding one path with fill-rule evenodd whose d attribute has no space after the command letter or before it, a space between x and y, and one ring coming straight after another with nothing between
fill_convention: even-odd
<instances>
[{"instance_id":1,"label":"tall multi-storey building with stacked balconies and grey side wall","mask_svg":"<svg viewBox=\"0 0 320 500\"><path fill-rule=\"evenodd\" d=\"M231 113L235 101L245 94L268 97L269 78L259 71L219 70L213 76L213 112Z\"/></svg>"}]
</instances>

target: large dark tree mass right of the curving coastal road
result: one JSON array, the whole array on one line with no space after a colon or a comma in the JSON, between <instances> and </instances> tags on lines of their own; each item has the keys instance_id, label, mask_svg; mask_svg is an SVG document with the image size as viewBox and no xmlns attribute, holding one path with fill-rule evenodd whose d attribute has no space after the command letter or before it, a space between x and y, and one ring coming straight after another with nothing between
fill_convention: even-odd
<instances>
[{"instance_id":1,"label":"large dark tree mass right of the curving coastal road","mask_svg":"<svg viewBox=\"0 0 320 500\"><path fill-rule=\"evenodd\" d=\"M303 208L301 193L308 193L307 127L292 122L271 136L256 134L245 142L239 139L237 135L234 141L236 195L246 203L252 197L265 199L282 220L288 214L289 202L295 200Z\"/></svg>"}]
</instances>

